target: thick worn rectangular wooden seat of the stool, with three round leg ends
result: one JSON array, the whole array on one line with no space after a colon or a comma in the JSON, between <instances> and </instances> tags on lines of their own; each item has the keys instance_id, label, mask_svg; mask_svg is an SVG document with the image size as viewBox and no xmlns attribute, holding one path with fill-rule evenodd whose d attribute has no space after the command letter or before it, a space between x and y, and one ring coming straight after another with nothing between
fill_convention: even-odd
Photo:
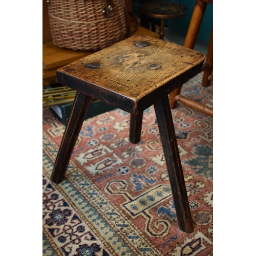
<instances>
[{"instance_id":1,"label":"thick worn rectangular wooden seat of the stool, with three round leg ends","mask_svg":"<svg viewBox=\"0 0 256 256\"><path fill-rule=\"evenodd\" d=\"M135 35L57 70L64 86L137 115L202 68L203 53Z\"/></svg>"}]
</instances>

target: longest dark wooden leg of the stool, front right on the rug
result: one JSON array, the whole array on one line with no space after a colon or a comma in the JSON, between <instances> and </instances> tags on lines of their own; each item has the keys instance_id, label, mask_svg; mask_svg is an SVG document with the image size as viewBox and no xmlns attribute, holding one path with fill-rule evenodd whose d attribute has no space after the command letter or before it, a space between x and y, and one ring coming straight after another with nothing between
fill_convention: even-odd
<instances>
[{"instance_id":1,"label":"longest dark wooden leg of the stool, front right on the rug","mask_svg":"<svg viewBox=\"0 0 256 256\"><path fill-rule=\"evenodd\" d=\"M179 227L182 231L190 233L193 231L193 221L168 96L156 102L154 107Z\"/></svg>"}]
</instances>

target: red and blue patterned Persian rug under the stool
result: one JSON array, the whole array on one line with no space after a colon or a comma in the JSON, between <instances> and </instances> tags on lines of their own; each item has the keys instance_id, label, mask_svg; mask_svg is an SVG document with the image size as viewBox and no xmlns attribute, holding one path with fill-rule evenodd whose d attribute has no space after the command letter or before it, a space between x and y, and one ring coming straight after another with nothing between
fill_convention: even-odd
<instances>
[{"instance_id":1,"label":"red and blue patterned Persian rug under the stool","mask_svg":"<svg viewBox=\"0 0 256 256\"><path fill-rule=\"evenodd\" d=\"M202 74L182 95L212 106ZM84 120L65 179L50 181L65 126L44 109L43 255L212 255L212 117L178 103L172 110L192 233L182 232L167 176L154 107L141 141L129 142L130 114L116 109Z\"/></svg>"}]
</instances>

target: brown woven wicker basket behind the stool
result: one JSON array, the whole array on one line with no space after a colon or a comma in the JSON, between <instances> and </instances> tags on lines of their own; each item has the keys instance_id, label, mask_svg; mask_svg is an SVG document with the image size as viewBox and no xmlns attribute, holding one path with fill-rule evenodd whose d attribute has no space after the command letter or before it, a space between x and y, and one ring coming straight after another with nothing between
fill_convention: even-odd
<instances>
[{"instance_id":1,"label":"brown woven wicker basket behind the stool","mask_svg":"<svg viewBox=\"0 0 256 256\"><path fill-rule=\"evenodd\" d=\"M122 40L126 32L124 10L112 0L114 15L106 15L105 0L49 0L53 44L73 50L100 50ZM108 1L109 2L109 1Z\"/></svg>"}]
</instances>

